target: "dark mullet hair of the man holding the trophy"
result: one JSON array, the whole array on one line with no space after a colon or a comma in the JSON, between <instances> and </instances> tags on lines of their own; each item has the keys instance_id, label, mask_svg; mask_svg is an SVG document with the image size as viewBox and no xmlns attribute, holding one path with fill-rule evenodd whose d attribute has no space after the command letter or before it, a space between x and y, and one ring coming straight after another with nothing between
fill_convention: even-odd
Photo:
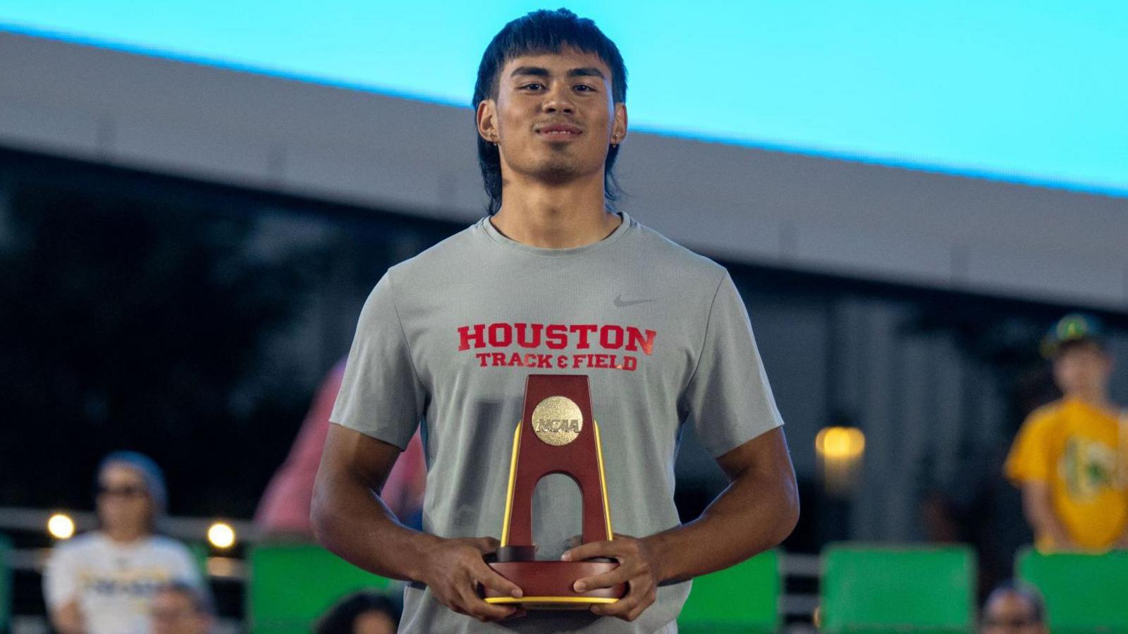
<instances>
[{"instance_id":1,"label":"dark mullet hair of the man holding the trophy","mask_svg":"<svg viewBox=\"0 0 1128 634\"><path fill-rule=\"evenodd\" d=\"M602 60L611 69L611 100L616 104L627 100L627 69L615 43L588 18L580 18L567 9L541 9L506 24L486 46L482 63L478 64L472 107L477 112L478 104L497 97L497 73L505 62L521 55L559 53L565 47L592 53ZM478 139L478 166L490 196L488 211L493 215L501 209L501 155L496 146L481 134L475 135ZM618 153L618 146L611 144L603 162L603 196L609 208L614 208L620 193L618 182L611 173Z\"/></svg>"}]
</instances>

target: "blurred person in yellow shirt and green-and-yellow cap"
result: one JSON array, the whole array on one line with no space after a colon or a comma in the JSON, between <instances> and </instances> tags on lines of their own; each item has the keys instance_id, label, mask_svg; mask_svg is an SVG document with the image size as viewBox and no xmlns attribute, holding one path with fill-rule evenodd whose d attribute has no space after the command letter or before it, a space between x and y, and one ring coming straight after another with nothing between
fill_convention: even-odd
<instances>
[{"instance_id":1,"label":"blurred person in yellow shirt and green-and-yellow cap","mask_svg":"<svg viewBox=\"0 0 1128 634\"><path fill-rule=\"evenodd\" d=\"M1112 356L1098 320L1073 314L1047 336L1060 399L1026 419L1004 472L1022 490L1039 551L1128 547L1128 415L1109 400Z\"/></svg>"}]
</instances>

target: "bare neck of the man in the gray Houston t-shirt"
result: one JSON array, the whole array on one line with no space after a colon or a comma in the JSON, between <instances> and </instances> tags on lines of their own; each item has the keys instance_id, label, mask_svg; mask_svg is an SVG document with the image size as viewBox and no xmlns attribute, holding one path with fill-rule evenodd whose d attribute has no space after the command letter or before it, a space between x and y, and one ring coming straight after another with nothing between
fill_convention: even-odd
<instances>
[{"instance_id":1,"label":"bare neck of the man in the gray Houston t-shirt","mask_svg":"<svg viewBox=\"0 0 1128 634\"><path fill-rule=\"evenodd\" d=\"M547 184L505 175L502 206L491 219L509 238L540 248L573 248L602 240L622 219L603 208L603 174Z\"/></svg>"}]
</instances>

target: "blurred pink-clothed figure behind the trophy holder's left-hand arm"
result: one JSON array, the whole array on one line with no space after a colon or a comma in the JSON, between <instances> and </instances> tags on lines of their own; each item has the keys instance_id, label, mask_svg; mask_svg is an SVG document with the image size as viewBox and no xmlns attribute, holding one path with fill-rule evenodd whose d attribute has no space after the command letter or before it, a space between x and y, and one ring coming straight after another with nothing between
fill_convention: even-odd
<instances>
[{"instance_id":1,"label":"blurred pink-clothed figure behind the trophy holder's left-hand arm","mask_svg":"<svg viewBox=\"0 0 1128 634\"><path fill-rule=\"evenodd\" d=\"M255 523L264 535L312 540L309 507L314 499L314 479L321 463L321 449L329 433L329 413L341 390L345 362L341 360L321 382L290 455L271 478L255 512ZM413 528L422 527L423 488L426 463L418 432L399 455L388 475L380 497L399 521Z\"/></svg>"}]
</instances>

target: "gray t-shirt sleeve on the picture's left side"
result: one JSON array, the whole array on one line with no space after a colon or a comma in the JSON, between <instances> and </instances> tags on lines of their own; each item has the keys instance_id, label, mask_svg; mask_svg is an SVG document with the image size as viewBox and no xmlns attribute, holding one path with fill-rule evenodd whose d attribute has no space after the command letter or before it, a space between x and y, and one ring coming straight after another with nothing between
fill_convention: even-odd
<instances>
[{"instance_id":1,"label":"gray t-shirt sleeve on the picture's left side","mask_svg":"<svg viewBox=\"0 0 1128 634\"><path fill-rule=\"evenodd\" d=\"M426 393L415 372L394 296L389 272L361 309L329 420L403 450L423 416Z\"/></svg>"}]
</instances>

